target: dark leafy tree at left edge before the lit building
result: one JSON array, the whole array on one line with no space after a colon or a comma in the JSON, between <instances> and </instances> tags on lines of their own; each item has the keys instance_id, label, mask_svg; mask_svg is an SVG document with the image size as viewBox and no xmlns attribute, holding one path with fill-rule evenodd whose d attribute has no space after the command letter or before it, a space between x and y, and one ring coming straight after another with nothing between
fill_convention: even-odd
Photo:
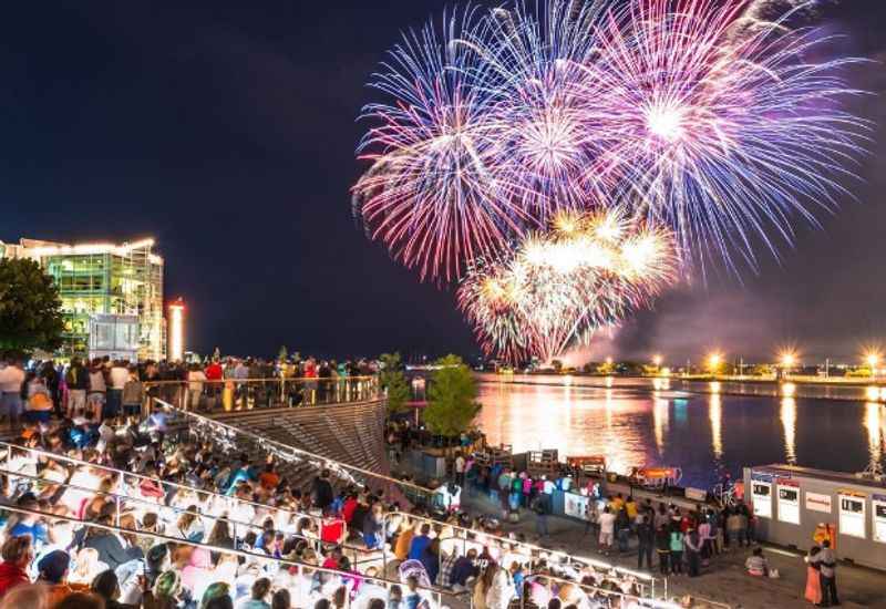
<instances>
[{"instance_id":1,"label":"dark leafy tree at left edge before the lit building","mask_svg":"<svg viewBox=\"0 0 886 609\"><path fill-rule=\"evenodd\" d=\"M29 354L62 345L59 290L32 260L0 260L0 351Z\"/></svg>"}]
</instances>

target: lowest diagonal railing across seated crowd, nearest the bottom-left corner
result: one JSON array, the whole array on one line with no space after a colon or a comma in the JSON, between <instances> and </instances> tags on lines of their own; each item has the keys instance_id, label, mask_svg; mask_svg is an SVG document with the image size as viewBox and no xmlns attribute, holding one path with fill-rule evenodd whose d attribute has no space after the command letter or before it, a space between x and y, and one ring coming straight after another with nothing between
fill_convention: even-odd
<instances>
[{"instance_id":1,"label":"lowest diagonal railing across seated crowd, nearest the bottom-left corner","mask_svg":"<svg viewBox=\"0 0 886 609\"><path fill-rule=\"evenodd\" d=\"M247 551L247 550L244 550L244 549L230 549L230 548L224 548L224 547L220 547L220 546L213 546L213 545L209 545L209 544L204 544L204 543L200 543L200 541L190 541L190 540L186 540L186 539L177 539L177 538L169 537L167 535L163 535L163 534L159 534L159 533L146 533L146 531L138 530L138 529L130 529L130 528L123 528L123 527L112 526L112 525L103 525L103 524L100 524L100 523L84 523L82 520L78 520L76 518L72 518L70 516L60 516L60 515L56 515L56 514L42 512L42 510L39 510L39 509L29 509L29 508L24 508L24 507L20 507L20 506L3 506L2 509L7 510L7 512L17 513L17 514L27 514L27 515L31 515L31 516L38 516L40 518L44 518L44 519L53 522L53 523L61 520L61 522L72 523L74 525L80 525L80 526L86 527L86 528L102 529L102 530L106 530L106 531L110 531L110 533L115 533L115 534L121 535L121 536L122 535L132 535L132 536L135 536L135 537L153 539L153 540L158 541L158 543L172 543L172 544L176 544L176 545L179 545L179 546L189 546L189 547L193 547L193 548L203 548L203 549L206 549L208 551L215 551L215 553L225 554L225 555L233 555L233 556L237 556L237 557L243 557L243 558L246 558L246 559L255 560L255 561L257 561L259 564L275 565L278 568L279 567L296 567L301 572L310 572L310 574L313 574L313 572L323 574L324 572L324 574L328 574L330 576L339 577L342 580L353 579L354 576L361 577L361 579L362 579L362 576L360 574L357 574L357 572L342 571L342 570L339 570L339 569L330 569L330 568L320 567L320 566L316 566L316 565L310 565L308 562L301 562L301 561L298 561L298 560L291 560L291 559L288 559L288 558L275 558L275 557L268 556L267 554L258 554L258 553L254 553L254 551ZM393 586L398 586L398 587L403 586L403 582L394 581L394 580L387 579L384 577L379 577L379 576L367 577L365 580L370 580L370 581L379 585L380 587L384 588L385 591L389 592L389 593L390 593L390 590L391 590L391 588ZM364 582L365 582L365 580L364 580ZM235 588L235 582L234 581L230 581L230 582L227 582L227 584L230 585L231 589ZM429 587L418 586L416 589L422 592L421 596L423 598L429 600L429 603L431 605L432 609L442 609L442 607L443 607L443 595L446 593L446 592L444 592L442 590L439 590L439 589L435 589L433 587L429 588ZM350 601L350 595L346 595L346 607L350 607L350 602L351 602Z\"/></svg>"}]
</instances>

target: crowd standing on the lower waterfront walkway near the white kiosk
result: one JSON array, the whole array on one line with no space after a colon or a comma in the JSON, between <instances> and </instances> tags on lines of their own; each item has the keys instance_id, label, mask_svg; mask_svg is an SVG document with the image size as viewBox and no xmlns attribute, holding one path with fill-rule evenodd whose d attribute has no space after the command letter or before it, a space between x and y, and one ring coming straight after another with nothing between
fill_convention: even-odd
<instances>
[{"instance_id":1,"label":"crowd standing on the lower waterfront walkway near the white kiosk","mask_svg":"<svg viewBox=\"0 0 886 609\"><path fill-rule=\"evenodd\" d=\"M466 486L468 496L483 494L498 505L503 519L517 519L521 509L528 509L535 518L539 543L549 535L553 493L579 493L589 499L583 515L583 543L589 538L590 549L606 556L636 553L638 570L657 571L664 577L699 577L718 556L733 549L748 551L756 543L755 516L743 502L722 508L696 504L694 509L686 509L674 503L653 503L651 498L636 500L621 493L604 496L599 478L583 481L573 471L532 475L501 463L478 464L473 455L463 452L456 453L452 475L454 482ZM583 481L581 487L577 481ZM806 565L804 598L818 607L839 605L837 557L830 539L811 548ZM746 557L744 568L751 577L779 577L759 546Z\"/></svg>"}]
</instances>

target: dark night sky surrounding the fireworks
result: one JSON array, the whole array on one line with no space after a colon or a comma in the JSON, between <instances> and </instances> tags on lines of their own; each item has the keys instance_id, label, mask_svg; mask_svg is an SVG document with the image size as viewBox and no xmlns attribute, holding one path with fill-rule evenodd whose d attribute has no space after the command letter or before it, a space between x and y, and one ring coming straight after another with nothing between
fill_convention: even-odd
<instances>
[{"instance_id":1,"label":"dark night sky surrounding the fireworks","mask_svg":"<svg viewBox=\"0 0 886 609\"><path fill-rule=\"evenodd\" d=\"M431 0L16 2L0 19L0 239L154 236L189 347L329 355L477 351L452 295L420 285L351 215L364 84ZM886 2L820 24L886 59ZM882 64L857 111L886 125ZM810 357L886 342L883 127L847 202L781 264L663 298L601 349L684 358L710 347Z\"/></svg>"}]
</instances>

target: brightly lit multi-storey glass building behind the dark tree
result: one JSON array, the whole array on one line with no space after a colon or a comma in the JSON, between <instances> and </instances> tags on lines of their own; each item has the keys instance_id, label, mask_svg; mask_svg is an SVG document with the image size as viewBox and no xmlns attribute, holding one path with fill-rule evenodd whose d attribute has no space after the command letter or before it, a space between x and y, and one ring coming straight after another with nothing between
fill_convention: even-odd
<instances>
[{"instance_id":1,"label":"brightly lit multi-storey glass building behind the dark tree","mask_svg":"<svg viewBox=\"0 0 886 609\"><path fill-rule=\"evenodd\" d=\"M63 355L90 354L90 328L96 316L134 316L138 357L164 358L164 264L152 239L122 245L22 239L14 246L0 242L2 257L29 258L52 277L64 312Z\"/></svg>"}]
</instances>

